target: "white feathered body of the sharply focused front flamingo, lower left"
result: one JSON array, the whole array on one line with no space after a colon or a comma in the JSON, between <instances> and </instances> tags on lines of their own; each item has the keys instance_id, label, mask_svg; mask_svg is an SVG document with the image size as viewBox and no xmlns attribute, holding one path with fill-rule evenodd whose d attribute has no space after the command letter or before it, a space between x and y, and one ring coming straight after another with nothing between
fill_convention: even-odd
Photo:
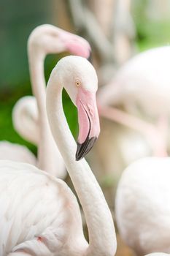
<instances>
[{"instance_id":1,"label":"white feathered body of the sharply focused front flamingo, lower left","mask_svg":"<svg viewBox=\"0 0 170 256\"><path fill-rule=\"evenodd\" d=\"M79 244L87 246L79 238L82 220L77 200L62 180L32 165L9 161L0 162L0 176L0 255L19 249L39 256L53 255L55 250L60 255Z\"/></svg>"}]
</instances>

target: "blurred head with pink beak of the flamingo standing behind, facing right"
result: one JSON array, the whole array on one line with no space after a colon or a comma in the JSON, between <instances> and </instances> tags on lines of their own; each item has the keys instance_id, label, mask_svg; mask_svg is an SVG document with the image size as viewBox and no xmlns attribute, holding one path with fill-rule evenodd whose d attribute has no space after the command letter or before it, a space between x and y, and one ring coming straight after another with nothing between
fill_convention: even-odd
<instances>
[{"instance_id":1,"label":"blurred head with pink beak of the flamingo standing behind, facing right","mask_svg":"<svg viewBox=\"0 0 170 256\"><path fill-rule=\"evenodd\" d=\"M50 53L68 51L73 55L90 58L90 45L84 38L64 31L52 25L41 25L31 32L28 39L28 50L42 53L45 56Z\"/></svg>"}]
</instances>

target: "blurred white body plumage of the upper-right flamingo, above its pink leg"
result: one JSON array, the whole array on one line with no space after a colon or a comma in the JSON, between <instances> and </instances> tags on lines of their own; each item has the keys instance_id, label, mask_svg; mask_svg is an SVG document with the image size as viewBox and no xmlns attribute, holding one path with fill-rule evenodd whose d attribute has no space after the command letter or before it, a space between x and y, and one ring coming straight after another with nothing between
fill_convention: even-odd
<instances>
[{"instance_id":1,"label":"blurred white body plumage of the upper-right flamingo, above its pink leg","mask_svg":"<svg viewBox=\"0 0 170 256\"><path fill-rule=\"evenodd\" d=\"M167 115L170 112L169 65L169 46L139 53L120 67L98 99L104 104L130 105L146 116Z\"/></svg>"}]
</instances>

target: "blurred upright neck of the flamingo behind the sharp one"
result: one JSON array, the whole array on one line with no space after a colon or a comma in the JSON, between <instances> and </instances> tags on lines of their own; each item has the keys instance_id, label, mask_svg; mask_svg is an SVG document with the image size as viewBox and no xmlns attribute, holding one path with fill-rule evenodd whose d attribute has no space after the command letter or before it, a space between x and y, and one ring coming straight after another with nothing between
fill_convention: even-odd
<instances>
[{"instance_id":1,"label":"blurred upright neck of the flamingo behind the sharp one","mask_svg":"<svg viewBox=\"0 0 170 256\"><path fill-rule=\"evenodd\" d=\"M58 169L61 168L64 170L64 166L58 164L58 162L61 163L61 155L58 152L58 148L55 146L47 121L44 60L44 54L39 52L35 53L31 47L28 48L31 85L39 110L38 167L42 170L46 170L47 173L50 173L53 176L58 176L58 173L61 173L61 170Z\"/></svg>"}]
</instances>

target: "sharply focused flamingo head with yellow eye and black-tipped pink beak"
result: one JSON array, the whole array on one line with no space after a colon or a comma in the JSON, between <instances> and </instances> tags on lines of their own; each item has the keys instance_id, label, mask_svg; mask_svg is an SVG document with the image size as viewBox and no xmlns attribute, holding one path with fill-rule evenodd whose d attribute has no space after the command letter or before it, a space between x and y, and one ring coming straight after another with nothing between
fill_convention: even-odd
<instances>
[{"instance_id":1,"label":"sharply focused flamingo head with yellow eye and black-tipped pink beak","mask_svg":"<svg viewBox=\"0 0 170 256\"><path fill-rule=\"evenodd\" d=\"M98 138L100 124L96 106L98 79L90 62L82 57L67 56L58 61L59 81L78 110L79 136L76 160L85 157Z\"/></svg>"}]
</instances>

